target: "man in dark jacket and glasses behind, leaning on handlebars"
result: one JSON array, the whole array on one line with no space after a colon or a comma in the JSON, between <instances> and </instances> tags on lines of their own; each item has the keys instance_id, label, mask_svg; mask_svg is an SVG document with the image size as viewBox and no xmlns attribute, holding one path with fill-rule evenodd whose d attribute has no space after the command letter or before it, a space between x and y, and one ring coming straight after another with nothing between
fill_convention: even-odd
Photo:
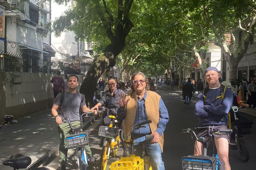
<instances>
[{"instance_id":1,"label":"man in dark jacket and glasses behind, leaning on handlebars","mask_svg":"<svg viewBox=\"0 0 256 170\"><path fill-rule=\"evenodd\" d=\"M99 103L97 103L91 110L93 111L94 109L99 110L99 106L105 105L106 108L109 109L109 113L111 115L116 116L117 115L117 109L119 108L119 101L121 97L119 94L123 95L124 91L122 89L117 89L116 88L116 81L113 77L108 78L108 91L105 91L99 100ZM106 114L102 115L103 118L103 124L108 125L110 123L110 118ZM100 142L100 147L103 145L103 139Z\"/></svg>"}]
</instances>

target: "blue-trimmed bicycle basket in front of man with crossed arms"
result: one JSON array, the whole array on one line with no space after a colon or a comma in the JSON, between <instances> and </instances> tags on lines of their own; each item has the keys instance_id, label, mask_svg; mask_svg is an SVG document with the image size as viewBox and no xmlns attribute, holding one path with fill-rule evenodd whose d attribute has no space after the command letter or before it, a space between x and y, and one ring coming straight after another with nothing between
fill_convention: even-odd
<instances>
[{"instance_id":1,"label":"blue-trimmed bicycle basket in front of man with crossed arms","mask_svg":"<svg viewBox=\"0 0 256 170\"><path fill-rule=\"evenodd\" d=\"M215 170L217 158L209 156L186 156L182 158L183 170Z\"/></svg>"}]
</instances>

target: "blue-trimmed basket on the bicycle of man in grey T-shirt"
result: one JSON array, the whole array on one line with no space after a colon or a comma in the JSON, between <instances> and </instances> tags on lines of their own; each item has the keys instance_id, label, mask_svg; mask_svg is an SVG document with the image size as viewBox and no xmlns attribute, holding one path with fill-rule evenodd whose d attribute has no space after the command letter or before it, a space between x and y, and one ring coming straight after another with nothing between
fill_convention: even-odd
<instances>
[{"instance_id":1,"label":"blue-trimmed basket on the bicycle of man in grey T-shirt","mask_svg":"<svg viewBox=\"0 0 256 170\"><path fill-rule=\"evenodd\" d=\"M78 148L89 145L87 132L75 133L66 138L67 148Z\"/></svg>"}]
</instances>

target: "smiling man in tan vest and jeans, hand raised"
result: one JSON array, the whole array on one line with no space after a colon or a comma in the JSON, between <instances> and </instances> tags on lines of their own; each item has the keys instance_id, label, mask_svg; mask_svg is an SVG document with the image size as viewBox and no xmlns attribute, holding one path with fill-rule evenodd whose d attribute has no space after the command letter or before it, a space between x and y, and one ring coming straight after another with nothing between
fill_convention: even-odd
<instances>
[{"instance_id":1,"label":"smiling man in tan vest and jeans, hand raised","mask_svg":"<svg viewBox=\"0 0 256 170\"><path fill-rule=\"evenodd\" d=\"M124 120L125 140L131 138L132 126L140 122L151 120L145 128L134 131L134 154L142 156L142 145L145 146L153 170L164 170L162 152L164 145L164 130L169 121L169 115L161 96L153 91L148 91L148 80L143 73L132 76L132 92L123 95L118 108L117 115ZM151 143L145 141L145 135L154 136ZM140 136L136 138L137 136ZM141 137L142 136L142 137Z\"/></svg>"}]
</instances>

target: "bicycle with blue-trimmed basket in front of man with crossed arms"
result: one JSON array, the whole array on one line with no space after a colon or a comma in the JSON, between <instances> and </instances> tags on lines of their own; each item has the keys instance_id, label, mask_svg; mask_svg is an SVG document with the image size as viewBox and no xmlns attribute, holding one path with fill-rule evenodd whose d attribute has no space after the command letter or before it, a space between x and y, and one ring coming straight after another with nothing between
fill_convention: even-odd
<instances>
[{"instance_id":1,"label":"bicycle with blue-trimmed basket in front of man with crossed arms","mask_svg":"<svg viewBox=\"0 0 256 170\"><path fill-rule=\"evenodd\" d=\"M212 130L212 126L204 127L209 129L209 138L206 137L199 137L197 138L196 133L191 129L183 129L182 133L190 133L193 139L201 142L203 145L203 155L200 156L185 156L182 157L182 167L183 170L205 170L205 169L212 169L212 170L220 170L220 161L217 151L215 151L215 143L212 134L221 134L221 133L232 133L231 129L219 129L219 130ZM213 141L213 150L212 156L207 156L207 142Z\"/></svg>"}]
</instances>

